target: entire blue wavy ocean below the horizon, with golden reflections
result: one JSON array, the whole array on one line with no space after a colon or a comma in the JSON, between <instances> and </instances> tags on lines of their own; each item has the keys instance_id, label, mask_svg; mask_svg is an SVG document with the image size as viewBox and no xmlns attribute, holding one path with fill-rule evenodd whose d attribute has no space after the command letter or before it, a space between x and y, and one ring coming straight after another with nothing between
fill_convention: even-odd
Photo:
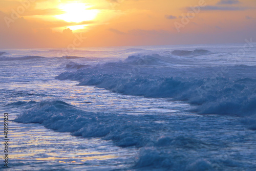
<instances>
[{"instance_id":1,"label":"entire blue wavy ocean below the horizon, with golden reflections","mask_svg":"<svg viewBox=\"0 0 256 171\"><path fill-rule=\"evenodd\" d=\"M256 170L255 73L251 39L1 49L5 170Z\"/></svg>"}]
</instances>

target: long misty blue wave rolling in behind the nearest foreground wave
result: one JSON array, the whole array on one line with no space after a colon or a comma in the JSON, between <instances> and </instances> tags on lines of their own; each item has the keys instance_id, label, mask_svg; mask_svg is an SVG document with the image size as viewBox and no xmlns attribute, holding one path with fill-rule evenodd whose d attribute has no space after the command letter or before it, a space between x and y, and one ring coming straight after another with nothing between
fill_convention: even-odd
<instances>
[{"instance_id":1,"label":"long misty blue wave rolling in behind the nearest foreground wave","mask_svg":"<svg viewBox=\"0 0 256 171\"><path fill-rule=\"evenodd\" d=\"M200 114L256 113L256 67L157 67L161 61L159 55L130 56L123 62L65 72L56 78L78 80L79 86L96 86L127 95L187 101L196 105ZM238 71L240 74L236 74Z\"/></svg>"}]
</instances>

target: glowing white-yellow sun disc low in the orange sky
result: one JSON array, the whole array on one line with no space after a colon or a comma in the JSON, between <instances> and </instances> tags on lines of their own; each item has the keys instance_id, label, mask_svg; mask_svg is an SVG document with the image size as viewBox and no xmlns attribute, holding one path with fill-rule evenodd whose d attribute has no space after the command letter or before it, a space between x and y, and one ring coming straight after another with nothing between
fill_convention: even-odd
<instances>
[{"instance_id":1,"label":"glowing white-yellow sun disc low in the orange sky","mask_svg":"<svg viewBox=\"0 0 256 171\"><path fill-rule=\"evenodd\" d=\"M99 10L89 9L92 6L84 3L68 3L59 5L59 9L65 11L65 14L55 15L56 18L66 22L80 23L94 20Z\"/></svg>"}]
</instances>

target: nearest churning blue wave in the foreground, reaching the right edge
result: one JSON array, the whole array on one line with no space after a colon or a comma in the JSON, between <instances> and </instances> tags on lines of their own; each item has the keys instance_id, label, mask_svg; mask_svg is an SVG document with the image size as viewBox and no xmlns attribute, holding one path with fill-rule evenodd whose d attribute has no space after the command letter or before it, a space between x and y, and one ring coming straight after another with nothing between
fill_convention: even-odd
<instances>
[{"instance_id":1,"label":"nearest churning blue wave in the foreground, reaching the right edge","mask_svg":"<svg viewBox=\"0 0 256 171\"><path fill-rule=\"evenodd\" d=\"M40 123L48 129L70 132L73 136L98 137L112 140L120 147L139 148L131 166L135 170L239 170L255 167L255 149L241 148L245 145L245 137L247 144L256 146L254 136L251 136L255 133L243 132L242 124L232 117L119 115L87 112L63 101L19 103L30 109L19 115L16 122ZM11 105L17 106L17 103L8 106ZM198 132L196 127L202 130ZM223 133L219 132L220 128ZM233 134L229 134L230 131ZM241 155L243 161L240 161Z\"/></svg>"}]
</instances>

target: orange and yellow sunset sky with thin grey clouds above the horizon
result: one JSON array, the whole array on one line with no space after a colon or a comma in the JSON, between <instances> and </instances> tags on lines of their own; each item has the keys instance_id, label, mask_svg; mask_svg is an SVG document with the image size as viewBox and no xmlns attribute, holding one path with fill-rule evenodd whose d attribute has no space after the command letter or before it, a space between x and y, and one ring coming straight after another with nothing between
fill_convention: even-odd
<instances>
[{"instance_id":1,"label":"orange and yellow sunset sky with thin grey clouds above the horizon","mask_svg":"<svg viewBox=\"0 0 256 171\"><path fill-rule=\"evenodd\" d=\"M255 0L0 0L0 49L256 41Z\"/></svg>"}]
</instances>

